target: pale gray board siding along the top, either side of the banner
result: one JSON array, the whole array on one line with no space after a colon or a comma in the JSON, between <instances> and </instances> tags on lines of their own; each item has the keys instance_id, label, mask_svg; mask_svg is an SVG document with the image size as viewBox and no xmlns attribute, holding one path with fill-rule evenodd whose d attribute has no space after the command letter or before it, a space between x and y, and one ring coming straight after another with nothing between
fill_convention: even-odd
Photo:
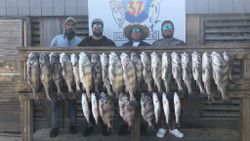
<instances>
[{"instance_id":1,"label":"pale gray board siding along the top, either side of the banner","mask_svg":"<svg viewBox=\"0 0 250 141\"><path fill-rule=\"evenodd\" d=\"M83 16L87 7L88 0L0 0L0 16ZM250 13L250 0L186 0L186 13Z\"/></svg>"}]
</instances>

